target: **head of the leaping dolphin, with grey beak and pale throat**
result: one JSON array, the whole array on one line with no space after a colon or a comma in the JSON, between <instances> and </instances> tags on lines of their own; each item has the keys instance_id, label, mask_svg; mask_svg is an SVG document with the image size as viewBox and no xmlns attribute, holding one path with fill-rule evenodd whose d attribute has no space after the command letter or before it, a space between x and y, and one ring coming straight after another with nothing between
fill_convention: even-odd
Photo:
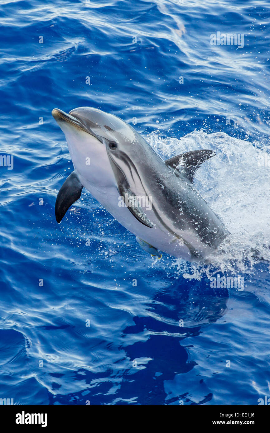
<instances>
[{"instance_id":1,"label":"head of the leaping dolphin, with grey beak and pale throat","mask_svg":"<svg viewBox=\"0 0 270 433\"><path fill-rule=\"evenodd\" d=\"M65 134L75 169L92 184L116 184L119 163L140 152L141 136L113 114L80 107L68 114L55 108L52 116Z\"/></svg>"}]
</instances>

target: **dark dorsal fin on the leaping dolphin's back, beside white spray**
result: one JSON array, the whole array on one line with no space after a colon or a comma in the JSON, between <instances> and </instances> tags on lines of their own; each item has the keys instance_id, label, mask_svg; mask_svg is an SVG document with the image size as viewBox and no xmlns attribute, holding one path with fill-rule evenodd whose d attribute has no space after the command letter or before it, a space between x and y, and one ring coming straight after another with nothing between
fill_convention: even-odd
<instances>
[{"instance_id":1,"label":"dark dorsal fin on the leaping dolphin's back, beside white spray","mask_svg":"<svg viewBox=\"0 0 270 433\"><path fill-rule=\"evenodd\" d=\"M195 171L201 167L201 165L207 161L216 153L213 150L200 149L192 150L191 152L181 153L180 155L174 156L173 158L166 159L165 164L171 167L173 170L179 170L178 166L181 166L181 172L189 179L193 181Z\"/></svg>"}]
</instances>

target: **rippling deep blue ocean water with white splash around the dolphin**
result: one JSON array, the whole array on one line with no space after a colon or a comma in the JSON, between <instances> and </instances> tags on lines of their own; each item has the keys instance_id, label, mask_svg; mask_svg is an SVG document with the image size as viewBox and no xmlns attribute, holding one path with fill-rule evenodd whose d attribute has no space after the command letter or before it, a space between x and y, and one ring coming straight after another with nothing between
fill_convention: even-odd
<instances>
[{"instance_id":1,"label":"rippling deep blue ocean water with white splash around the dolphin","mask_svg":"<svg viewBox=\"0 0 270 433\"><path fill-rule=\"evenodd\" d=\"M270 396L269 23L255 0L0 2L1 398ZM211 45L217 32L244 46ZM231 236L208 262L153 260L86 190L56 223L73 166L51 111L80 106L133 123L164 159L216 151L195 187Z\"/></svg>"}]
</instances>

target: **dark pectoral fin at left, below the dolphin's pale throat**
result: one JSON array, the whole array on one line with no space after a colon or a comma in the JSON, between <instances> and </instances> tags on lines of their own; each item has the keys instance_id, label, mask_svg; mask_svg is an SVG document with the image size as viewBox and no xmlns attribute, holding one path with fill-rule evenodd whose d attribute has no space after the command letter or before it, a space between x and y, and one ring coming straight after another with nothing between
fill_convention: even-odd
<instances>
[{"instance_id":1,"label":"dark pectoral fin at left, below the dolphin's pale throat","mask_svg":"<svg viewBox=\"0 0 270 433\"><path fill-rule=\"evenodd\" d=\"M68 208L81 197L82 188L77 173L72 171L62 184L56 197L55 218L58 223L60 223Z\"/></svg>"}]
</instances>

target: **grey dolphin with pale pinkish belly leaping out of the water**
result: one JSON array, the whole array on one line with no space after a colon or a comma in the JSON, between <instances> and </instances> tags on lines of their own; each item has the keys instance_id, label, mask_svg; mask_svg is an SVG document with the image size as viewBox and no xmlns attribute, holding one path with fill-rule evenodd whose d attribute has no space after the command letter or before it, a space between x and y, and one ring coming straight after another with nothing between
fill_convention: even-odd
<instances>
[{"instance_id":1,"label":"grey dolphin with pale pinkish belly leaping out of the water","mask_svg":"<svg viewBox=\"0 0 270 433\"><path fill-rule=\"evenodd\" d=\"M59 190L60 223L85 187L152 256L204 259L229 234L193 186L215 155L195 150L163 161L132 126L111 113L79 107L52 116L65 134L75 170Z\"/></svg>"}]
</instances>

